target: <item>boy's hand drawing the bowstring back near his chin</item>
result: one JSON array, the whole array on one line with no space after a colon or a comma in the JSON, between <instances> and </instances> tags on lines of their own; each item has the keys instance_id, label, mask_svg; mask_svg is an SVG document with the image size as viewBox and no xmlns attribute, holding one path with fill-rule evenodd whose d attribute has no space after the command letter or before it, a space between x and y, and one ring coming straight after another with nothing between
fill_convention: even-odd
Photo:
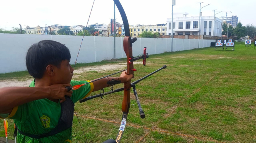
<instances>
[{"instance_id":1,"label":"boy's hand drawing the bowstring back near his chin","mask_svg":"<svg viewBox=\"0 0 256 143\"><path fill-rule=\"evenodd\" d=\"M65 85L58 84L58 85L48 86L47 88L50 90L49 99L52 99L52 100L61 99L60 103L62 103L66 100L65 95L71 97L73 91L72 90L68 91L66 86L71 86L71 85L70 84L65 84Z\"/></svg>"}]
</instances>

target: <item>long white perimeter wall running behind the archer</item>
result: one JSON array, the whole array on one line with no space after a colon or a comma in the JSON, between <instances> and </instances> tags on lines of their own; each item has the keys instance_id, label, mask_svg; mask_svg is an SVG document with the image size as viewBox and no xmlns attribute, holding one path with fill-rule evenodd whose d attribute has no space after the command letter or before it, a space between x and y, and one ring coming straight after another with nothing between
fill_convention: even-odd
<instances>
[{"instance_id":1,"label":"long white perimeter wall running behind the archer","mask_svg":"<svg viewBox=\"0 0 256 143\"><path fill-rule=\"evenodd\" d=\"M70 50L71 64L75 63L83 36L2 34L0 33L0 73L27 70L25 56L28 48L41 40L49 39L65 44ZM125 58L123 37L116 37L116 58ZM212 40L200 40L200 48L210 47ZM169 38L137 38L133 43L133 56L137 57L147 47L147 53L171 52ZM173 39L173 52L198 48L197 39ZM100 62L114 57L114 37L85 36L77 59L78 63Z\"/></svg>"}]
</instances>

